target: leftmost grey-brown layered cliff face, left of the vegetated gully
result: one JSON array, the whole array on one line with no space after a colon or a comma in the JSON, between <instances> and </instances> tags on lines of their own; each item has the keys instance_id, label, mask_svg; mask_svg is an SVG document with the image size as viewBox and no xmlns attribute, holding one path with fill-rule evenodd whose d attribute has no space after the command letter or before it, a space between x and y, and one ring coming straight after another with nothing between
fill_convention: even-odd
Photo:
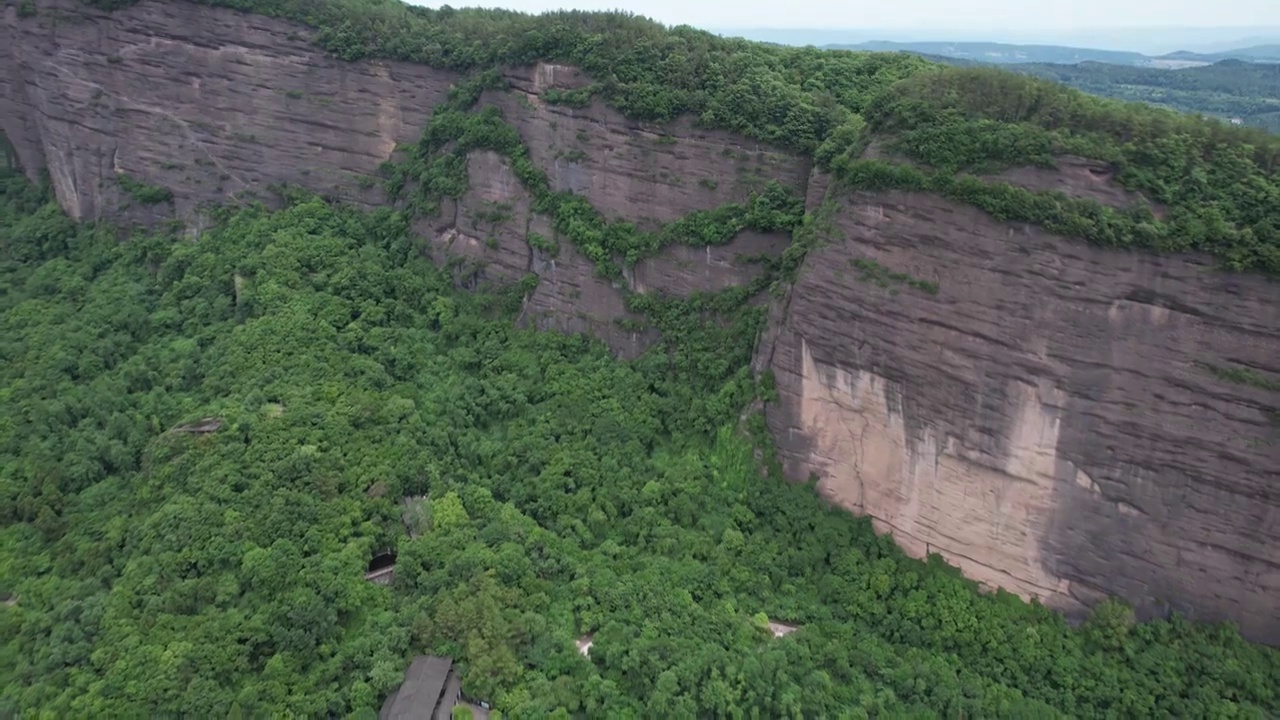
<instances>
[{"instance_id":1,"label":"leftmost grey-brown layered cliff face, left of the vegetated gully","mask_svg":"<svg viewBox=\"0 0 1280 720\"><path fill-rule=\"evenodd\" d=\"M47 168L77 219L118 218L128 174L202 202L288 182L364 204L378 167L416 141L453 77L343 63L297 26L145 0L110 15L76 0L5 8L0 128L23 168Z\"/></svg>"}]
</instances>

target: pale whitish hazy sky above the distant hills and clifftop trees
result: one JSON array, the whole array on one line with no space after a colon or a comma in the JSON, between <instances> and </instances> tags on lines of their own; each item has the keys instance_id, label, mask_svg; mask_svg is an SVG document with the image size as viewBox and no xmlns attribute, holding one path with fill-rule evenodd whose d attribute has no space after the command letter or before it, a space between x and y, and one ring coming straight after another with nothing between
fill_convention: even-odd
<instances>
[{"instance_id":1,"label":"pale whitish hazy sky above the distant hills and clifftop trees","mask_svg":"<svg viewBox=\"0 0 1280 720\"><path fill-rule=\"evenodd\" d=\"M411 0L436 6L439 3ZM704 28L1068 31L1134 26L1277 26L1280 0L453 0L539 13L623 9Z\"/></svg>"}]
</instances>

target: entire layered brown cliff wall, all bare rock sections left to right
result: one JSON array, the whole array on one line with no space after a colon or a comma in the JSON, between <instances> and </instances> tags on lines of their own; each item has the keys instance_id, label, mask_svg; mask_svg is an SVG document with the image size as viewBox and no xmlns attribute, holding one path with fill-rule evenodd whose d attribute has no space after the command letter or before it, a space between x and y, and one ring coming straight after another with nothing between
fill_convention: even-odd
<instances>
[{"instance_id":1,"label":"entire layered brown cliff wall, all bare rock sections left to right","mask_svg":"<svg viewBox=\"0 0 1280 720\"><path fill-rule=\"evenodd\" d=\"M376 205L379 164L417 138L454 79L337 61L303 28L186 3L104 15L50 0L33 18L10 3L0 31L0 128L81 219L192 225L201 204L275 182ZM508 79L511 92L481 102L502 109L558 190L611 218L669 222L767 179L824 218L829 240L771 307L756 356L777 379L767 415L792 478L815 474L909 552L938 552L987 585L1065 610L1119 594L1280 642L1280 397L1207 369L1280 373L1274 283L1092 249L932 196L842 193L805 159L689 122L541 102L547 87L588 82L572 68ZM568 242L530 245L554 232L504 159L472 154L468 173L470 191L417 225L460 282L535 273L522 322L594 333L623 356L653 343L620 323L621 287ZM174 200L143 208L124 177ZM1135 201L1078 159L1001 177ZM622 282L719 290L759 272L744 255L787 242L742 233L669 249Z\"/></svg>"}]
</instances>

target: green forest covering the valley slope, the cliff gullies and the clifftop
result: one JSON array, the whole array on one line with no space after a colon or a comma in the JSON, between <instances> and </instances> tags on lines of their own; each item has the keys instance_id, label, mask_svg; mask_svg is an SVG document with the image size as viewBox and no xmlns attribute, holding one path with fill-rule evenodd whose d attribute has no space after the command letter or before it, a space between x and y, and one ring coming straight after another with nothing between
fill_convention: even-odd
<instances>
[{"instance_id":1,"label":"green forest covering the valley slope, the cliff gullies and the clifftop","mask_svg":"<svg viewBox=\"0 0 1280 720\"><path fill-rule=\"evenodd\" d=\"M108 6L113 3L97 3ZM371 214L287 191L191 242L76 225L6 174L0 209L0 714L361 714L407 656L456 657L517 716L1251 716L1280 656L1229 626L1083 628L782 482L749 370L760 307L820 222L771 188L664 232L548 187L500 113L494 65L556 59L630 117L812 154L844 188L928 190L1103 246L1280 270L1280 143L1005 73L724 41L623 15L396 3L218 3L323 28L346 59L475 73L387 170ZM38 10L37 10L38 12ZM863 159L879 140L914 164ZM507 158L558 237L607 277L666 245L794 229L765 279L634 296L663 342L618 363L516 329L524 286L462 292L417 215ZM1111 163L1160 206L1116 210L978 179ZM161 188L164 190L164 188ZM180 432L216 418L218 432ZM764 459L768 473L759 470ZM428 495L408 539L399 501ZM398 550L390 588L365 583ZM764 618L803 625L773 639ZM594 633L590 659L572 641Z\"/></svg>"}]
</instances>

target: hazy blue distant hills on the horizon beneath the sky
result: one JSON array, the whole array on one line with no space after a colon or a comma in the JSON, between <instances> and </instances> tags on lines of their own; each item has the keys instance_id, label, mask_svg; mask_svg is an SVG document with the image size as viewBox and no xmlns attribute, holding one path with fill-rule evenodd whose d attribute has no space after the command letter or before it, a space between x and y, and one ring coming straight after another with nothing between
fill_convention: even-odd
<instances>
[{"instance_id":1,"label":"hazy blue distant hills on the horizon beneath the sky","mask_svg":"<svg viewBox=\"0 0 1280 720\"><path fill-rule=\"evenodd\" d=\"M1280 42L1254 45L1220 53L1178 51L1166 55L1144 55L1124 50L1093 50L1069 47L1064 45L1014 45L1007 42L891 42L873 40L858 44L828 44L828 49L873 50L881 53L915 53L934 58L951 58L991 64L1020 63L1108 63L1142 68L1190 68L1211 65L1221 60L1244 60L1249 63L1280 64Z\"/></svg>"}]
</instances>

